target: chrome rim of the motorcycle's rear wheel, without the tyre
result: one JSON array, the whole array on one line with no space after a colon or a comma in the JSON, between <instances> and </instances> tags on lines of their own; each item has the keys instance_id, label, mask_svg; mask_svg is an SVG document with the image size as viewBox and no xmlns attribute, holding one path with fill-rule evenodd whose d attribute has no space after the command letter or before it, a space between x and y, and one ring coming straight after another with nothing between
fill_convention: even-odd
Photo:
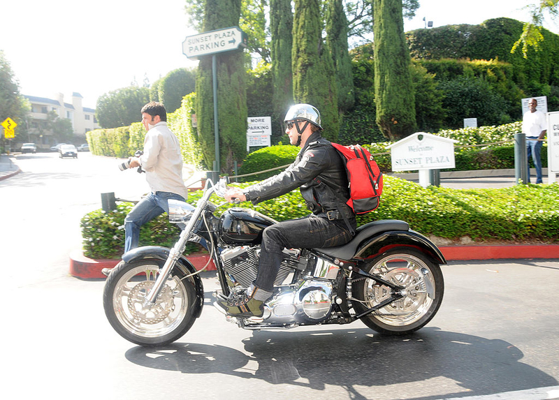
<instances>
[{"instance_id":1,"label":"chrome rim of the motorcycle's rear wheel, without the tyre","mask_svg":"<svg viewBox=\"0 0 559 400\"><path fill-rule=\"evenodd\" d=\"M435 278L423 260L409 254L393 254L379 260L371 269L386 281L403 286L401 299L372 313L379 322L391 326L415 323L428 313L435 299ZM389 299L391 289L367 279L365 304L368 307Z\"/></svg>"}]
</instances>

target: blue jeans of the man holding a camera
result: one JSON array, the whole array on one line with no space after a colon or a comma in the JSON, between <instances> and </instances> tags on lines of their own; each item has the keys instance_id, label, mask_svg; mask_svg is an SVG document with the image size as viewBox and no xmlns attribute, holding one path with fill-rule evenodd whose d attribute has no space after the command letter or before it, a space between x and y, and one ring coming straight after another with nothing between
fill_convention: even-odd
<instances>
[{"instance_id":1,"label":"blue jeans of the man holding a camera","mask_svg":"<svg viewBox=\"0 0 559 400\"><path fill-rule=\"evenodd\" d=\"M146 195L130 210L124 218L124 253L138 247L142 225L164 212L169 212L170 199L184 201L181 195L175 193L155 192ZM180 228L184 229L184 225Z\"/></svg>"}]
</instances>

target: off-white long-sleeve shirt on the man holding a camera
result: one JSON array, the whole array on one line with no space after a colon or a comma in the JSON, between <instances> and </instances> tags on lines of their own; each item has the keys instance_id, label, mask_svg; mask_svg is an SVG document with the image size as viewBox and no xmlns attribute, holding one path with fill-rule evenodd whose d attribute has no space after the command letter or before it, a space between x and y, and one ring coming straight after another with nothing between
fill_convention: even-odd
<instances>
[{"instance_id":1,"label":"off-white long-sleeve shirt on the man holding a camera","mask_svg":"<svg viewBox=\"0 0 559 400\"><path fill-rule=\"evenodd\" d=\"M147 131L140 164L152 193L164 191L187 198L188 191L182 180L180 143L166 122L159 122Z\"/></svg>"}]
</instances>

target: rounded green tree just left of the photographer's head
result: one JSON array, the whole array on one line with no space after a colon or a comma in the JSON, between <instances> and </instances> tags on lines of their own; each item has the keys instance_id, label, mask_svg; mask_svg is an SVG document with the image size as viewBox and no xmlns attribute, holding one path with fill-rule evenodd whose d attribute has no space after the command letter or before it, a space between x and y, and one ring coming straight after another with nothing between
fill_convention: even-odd
<instances>
[{"instance_id":1,"label":"rounded green tree just left of the photographer's head","mask_svg":"<svg viewBox=\"0 0 559 400\"><path fill-rule=\"evenodd\" d=\"M140 110L150 102L147 87L123 87L109 91L97 99L96 117L103 128L129 126L141 119Z\"/></svg>"}]
</instances>

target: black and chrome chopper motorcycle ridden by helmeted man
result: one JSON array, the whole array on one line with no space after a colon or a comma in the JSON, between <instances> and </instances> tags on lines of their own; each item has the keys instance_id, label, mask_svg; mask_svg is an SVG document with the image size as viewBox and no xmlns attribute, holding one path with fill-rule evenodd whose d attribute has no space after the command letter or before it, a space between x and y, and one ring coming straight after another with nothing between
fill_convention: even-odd
<instances>
[{"instance_id":1,"label":"black and chrome chopper motorcycle ridden by helmeted man","mask_svg":"<svg viewBox=\"0 0 559 400\"><path fill-rule=\"evenodd\" d=\"M244 290L256 279L262 231L277 223L251 209L233 207L221 216L226 180L208 179L196 207L169 200L169 219L184 223L172 249L144 246L124 255L103 290L112 327L140 346L180 339L201 315L204 290L199 272L183 255L187 242L202 244L217 269L220 290ZM284 249L274 292L261 317L232 317L244 329L347 324L361 320L382 334L409 334L426 325L442 302L437 246L404 221L361 225L350 242L324 249ZM216 306L219 311L224 311Z\"/></svg>"}]
</instances>

